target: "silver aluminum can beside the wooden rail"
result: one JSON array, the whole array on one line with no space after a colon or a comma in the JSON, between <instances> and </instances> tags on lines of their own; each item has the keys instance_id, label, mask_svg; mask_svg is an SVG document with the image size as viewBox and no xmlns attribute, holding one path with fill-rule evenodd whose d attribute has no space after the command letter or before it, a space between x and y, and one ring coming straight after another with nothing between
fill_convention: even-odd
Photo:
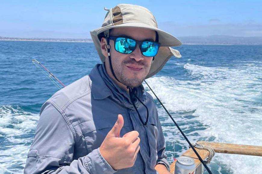
<instances>
[{"instance_id":1,"label":"silver aluminum can beside the wooden rail","mask_svg":"<svg viewBox=\"0 0 262 174\"><path fill-rule=\"evenodd\" d=\"M195 161L190 157L179 157L176 161L175 174L194 174Z\"/></svg>"}]
</instances>

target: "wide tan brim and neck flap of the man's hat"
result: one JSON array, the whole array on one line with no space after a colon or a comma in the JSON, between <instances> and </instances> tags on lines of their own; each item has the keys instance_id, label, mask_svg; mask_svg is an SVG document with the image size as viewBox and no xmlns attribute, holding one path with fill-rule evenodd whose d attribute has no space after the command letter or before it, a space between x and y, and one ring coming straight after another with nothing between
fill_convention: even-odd
<instances>
[{"instance_id":1,"label":"wide tan brim and neck flap of the man's hat","mask_svg":"<svg viewBox=\"0 0 262 174\"><path fill-rule=\"evenodd\" d=\"M154 58L154 62L151 65L150 71L148 73L148 75L146 76L146 78L149 78L151 76L153 76L154 74L158 73L158 71L160 71L165 63L174 55L176 57L181 57L180 53L175 50L172 49L170 46L180 46L182 43L179 41L179 39L177 39L176 37L174 37L173 35L164 32L163 30L160 30L158 28L154 28L152 26L149 26L145 23L142 22L127 22L127 23L123 23L120 25L108 25L106 27L101 27L95 30L90 31L92 40L94 41L95 44L95 48L98 52L98 55L101 59L102 62L105 61L105 57L102 54L101 51L101 45L100 45L100 40L98 38L98 35L102 32L105 32L109 29L113 29L113 28L123 28L123 27L134 27L134 28L141 28L141 29L150 29L150 30L154 30L156 32L158 32L158 41L159 43L161 43L161 46L158 50L158 54L155 56Z\"/></svg>"}]
</instances>

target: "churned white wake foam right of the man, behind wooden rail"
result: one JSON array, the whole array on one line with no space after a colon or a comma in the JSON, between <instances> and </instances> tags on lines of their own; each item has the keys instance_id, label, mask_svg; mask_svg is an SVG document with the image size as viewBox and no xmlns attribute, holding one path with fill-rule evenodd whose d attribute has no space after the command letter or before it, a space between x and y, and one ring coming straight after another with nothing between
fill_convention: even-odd
<instances>
[{"instance_id":1,"label":"churned white wake foam right of the man, behind wooden rail","mask_svg":"<svg viewBox=\"0 0 262 174\"><path fill-rule=\"evenodd\" d=\"M147 81L177 122L185 124L182 125L184 131L189 130L190 126L203 128L187 133L189 140L214 137L215 142L261 146L262 68L249 63L243 63L238 69L189 63L184 68L196 80L182 81L161 76ZM163 109L158 110L164 118L162 125L172 125ZM185 115L195 118L186 119ZM174 126L164 128L167 141L176 141L185 148L187 143L180 135L174 137L174 129ZM181 153L177 152L179 155ZM232 173L259 173L262 166L261 157L243 155L217 154L214 161L226 164Z\"/></svg>"}]
</instances>

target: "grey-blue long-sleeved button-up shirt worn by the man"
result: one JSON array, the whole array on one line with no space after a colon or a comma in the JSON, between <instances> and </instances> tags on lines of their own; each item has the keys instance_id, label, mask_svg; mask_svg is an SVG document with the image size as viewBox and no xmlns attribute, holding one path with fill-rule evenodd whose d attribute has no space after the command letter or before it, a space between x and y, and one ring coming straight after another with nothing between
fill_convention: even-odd
<instances>
[{"instance_id":1,"label":"grey-blue long-sleeved button-up shirt worn by the man","mask_svg":"<svg viewBox=\"0 0 262 174\"><path fill-rule=\"evenodd\" d=\"M129 94L108 76L104 64L97 64L89 76L73 82L46 101L32 146L28 152L24 173L158 173L156 164L166 159L165 140L154 100L143 86L136 95L148 107L148 124L143 125ZM145 107L136 107L146 120ZM133 167L114 170L99 152L104 138L122 114L122 137L127 132L139 132L140 150Z\"/></svg>"}]
</instances>

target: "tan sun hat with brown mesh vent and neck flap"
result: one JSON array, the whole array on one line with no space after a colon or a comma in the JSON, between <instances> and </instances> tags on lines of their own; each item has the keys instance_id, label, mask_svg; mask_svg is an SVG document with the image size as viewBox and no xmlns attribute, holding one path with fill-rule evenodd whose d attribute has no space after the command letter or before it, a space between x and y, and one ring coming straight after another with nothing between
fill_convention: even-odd
<instances>
[{"instance_id":1,"label":"tan sun hat with brown mesh vent and neck flap","mask_svg":"<svg viewBox=\"0 0 262 174\"><path fill-rule=\"evenodd\" d=\"M105 61L105 57L101 52L98 35L108 31L109 29L121 27L150 29L158 33L158 42L161 43L161 46L158 50L158 54L154 58L154 62L152 63L151 69L146 78L158 73L158 71L164 67L166 62L173 55L178 58L181 57L179 51L171 48L170 46L180 46L182 43L173 35L158 29L154 15L147 8L132 4L118 4L114 8L108 10L102 27L90 31L95 48L102 62Z\"/></svg>"}]
</instances>

